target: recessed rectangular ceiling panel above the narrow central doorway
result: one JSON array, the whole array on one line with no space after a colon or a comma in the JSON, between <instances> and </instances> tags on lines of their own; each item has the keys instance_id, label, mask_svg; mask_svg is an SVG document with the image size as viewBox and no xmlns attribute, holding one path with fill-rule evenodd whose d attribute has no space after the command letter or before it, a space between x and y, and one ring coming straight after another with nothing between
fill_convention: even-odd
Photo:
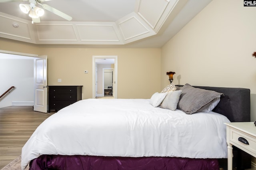
<instances>
[{"instance_id":1,"label":"recessed rectangular ceiling panel above the narrow central doorway","mask_svg":"<svg viewBox=\"0 0 256 170\"><path fill-rule=\"evenodd\" d=\"M81 41L119 42L114 25L76 25Z\"/></svg>"}]
</instances>

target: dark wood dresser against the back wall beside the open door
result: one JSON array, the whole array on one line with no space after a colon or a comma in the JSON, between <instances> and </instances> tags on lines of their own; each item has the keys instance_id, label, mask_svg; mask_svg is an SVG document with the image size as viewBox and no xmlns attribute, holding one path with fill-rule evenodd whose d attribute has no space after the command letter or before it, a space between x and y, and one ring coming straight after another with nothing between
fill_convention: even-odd
<instances>
[{"instance_id":1,"label":"dark wood dresser against the back wall beside the open door","mask_svg":"<svg viewBox=\"0 0 256 170\"><path fill-rule=\"evenodd\" d=\"M48 86L48 113L82 100L82 86Z\"/></svg>"}]
</instances>

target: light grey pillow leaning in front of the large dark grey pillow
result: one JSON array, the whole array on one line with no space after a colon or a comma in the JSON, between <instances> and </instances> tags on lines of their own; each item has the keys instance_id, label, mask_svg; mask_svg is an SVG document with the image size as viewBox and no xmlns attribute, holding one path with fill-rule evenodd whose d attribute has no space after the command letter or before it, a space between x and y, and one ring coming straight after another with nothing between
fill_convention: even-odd
<instances>
[{"instance_id":1,"label":"light grey pillow leaning in front of the large dark grey pillow","mask_svg":"<svg viewBox=\"0 0 256 170\"><path fill-rule=\"evenodd\" d=\"M175 111L177 109L177 105L180 100L181 93L182 93L182 90L170 91L169 93L167 93L160 107Z\"/></svg>"}]
</instances>

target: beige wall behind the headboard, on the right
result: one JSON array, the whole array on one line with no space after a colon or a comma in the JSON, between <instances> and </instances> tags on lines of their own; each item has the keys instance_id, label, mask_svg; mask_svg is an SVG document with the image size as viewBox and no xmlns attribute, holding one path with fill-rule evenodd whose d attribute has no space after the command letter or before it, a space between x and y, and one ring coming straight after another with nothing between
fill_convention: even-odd
<instances>
[{"instance_id":1,"label":"beige wall behind the headboard, on the right","mask_svg":"<svg viewBox=\"0 0 256 170\"><path fill-rule=\"evenodd\" d=\"M162 48L161 87L166 71L174 84L244 87L251 90L256 121L256 8L242 1L213 0Z\"/></svg>"}]
</instances>

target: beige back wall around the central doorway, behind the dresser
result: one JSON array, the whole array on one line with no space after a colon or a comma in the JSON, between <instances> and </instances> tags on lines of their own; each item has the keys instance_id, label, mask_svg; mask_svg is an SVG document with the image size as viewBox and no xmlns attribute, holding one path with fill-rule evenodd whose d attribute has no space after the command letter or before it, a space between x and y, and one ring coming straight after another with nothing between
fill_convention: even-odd
<instances>
[{"instance_id":1,"label":"beige back wall around the central doorway, behind the dresser","mask_svg":"<svg viewBox=\"0 0 256 170\"><path fill-rule=\"evenodd\" d=\"M160 48L39 47L0 39L0 49L48 56L48 85L83 85L82 99L92 97L92 56L118 56L118 98L149 99L160 92ZM84 73L88 70L88 74ZM58 83L58 79L62 79Z\"/></svg>"}]
</instances>

